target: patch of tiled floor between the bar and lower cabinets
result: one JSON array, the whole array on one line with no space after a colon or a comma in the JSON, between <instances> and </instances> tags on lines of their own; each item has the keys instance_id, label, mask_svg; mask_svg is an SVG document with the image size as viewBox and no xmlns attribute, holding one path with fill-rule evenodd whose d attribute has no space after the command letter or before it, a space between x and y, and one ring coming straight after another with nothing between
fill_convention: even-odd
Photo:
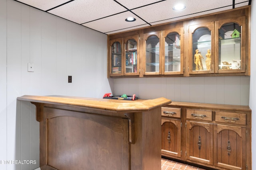
<instances>
[{"instance_id":1,"label":"patch of tiled floor between the bar and lower cabinets","mask_svg":"<svg viewBox=\"0 0 256 170\"><path fill-rule=\"evenodd\" d=\"M186 165L173 160L162 158L162 170L204 170L196 166Z\"/></svg>"}]
</instances>

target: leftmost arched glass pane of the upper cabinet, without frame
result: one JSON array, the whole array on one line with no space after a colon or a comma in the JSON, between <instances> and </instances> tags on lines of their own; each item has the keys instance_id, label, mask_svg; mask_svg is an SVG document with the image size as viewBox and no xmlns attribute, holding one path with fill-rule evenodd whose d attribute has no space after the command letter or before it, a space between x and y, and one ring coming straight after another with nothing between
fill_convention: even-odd
<instances>
[{"instance_id":1,"label":"leftmost arched glass pane of the upper cabinet, without frame","mask_svg":"<svg viewBox=\"0 0 256 170\"><path fill-rule=\"evenodd\" d=\"M119 42L114 42L111 48L111 73L118 74L121 73L122 70L122 47Z\"/></svg>"}]
</instances>

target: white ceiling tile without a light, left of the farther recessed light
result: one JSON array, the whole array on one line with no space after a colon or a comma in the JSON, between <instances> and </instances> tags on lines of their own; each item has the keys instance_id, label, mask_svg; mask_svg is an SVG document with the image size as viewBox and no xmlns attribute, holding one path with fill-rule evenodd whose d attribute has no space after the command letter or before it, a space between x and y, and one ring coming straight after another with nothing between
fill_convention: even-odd
<instances>
[{"instance_id":1,"label":"white ceiling tile without a light, left of the farther recessed light","mask_svg":"<svg viewBox=\"0 0 256 170\"><path fill-rule=\"evenodd\" d=\"M48 12L82 24L124 11L126 8L113 0L74 0Z\"/></svg>"}]
</instances>

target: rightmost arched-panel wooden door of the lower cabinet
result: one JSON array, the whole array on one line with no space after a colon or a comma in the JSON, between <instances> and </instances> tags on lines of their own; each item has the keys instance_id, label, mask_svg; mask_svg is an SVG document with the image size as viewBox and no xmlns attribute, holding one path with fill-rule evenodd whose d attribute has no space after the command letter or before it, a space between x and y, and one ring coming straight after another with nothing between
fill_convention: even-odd
<instances>
[{"instance_id":1,"label":"rightmost arched-panel wooden door of the lower cabinet","mask_svg":"<svg viewBox=\"0 0 256 170\"><path fill-rule=\"evenodd\" d=\"M230 170L246 169L246 128L214 125L214 165Z\"/></svg>"}]
</instances>

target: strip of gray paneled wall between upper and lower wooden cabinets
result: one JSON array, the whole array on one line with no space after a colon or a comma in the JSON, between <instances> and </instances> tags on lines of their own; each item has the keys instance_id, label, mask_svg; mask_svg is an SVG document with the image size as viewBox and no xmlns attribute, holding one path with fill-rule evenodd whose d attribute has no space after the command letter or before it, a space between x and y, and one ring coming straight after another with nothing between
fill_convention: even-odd
<instances>
[{"instance_id":1,"label":"strip of gray paneled wall between upper and lower wooden cabinets","mask_svg":"<svg viewBox=\"0 0 256 170\"><path fill-rule=\"evenodd\" d=\"M113 89L114 95L136 94L140 99L248 106L250 76L115 78Z\"/></svg>"}]
</instances>

